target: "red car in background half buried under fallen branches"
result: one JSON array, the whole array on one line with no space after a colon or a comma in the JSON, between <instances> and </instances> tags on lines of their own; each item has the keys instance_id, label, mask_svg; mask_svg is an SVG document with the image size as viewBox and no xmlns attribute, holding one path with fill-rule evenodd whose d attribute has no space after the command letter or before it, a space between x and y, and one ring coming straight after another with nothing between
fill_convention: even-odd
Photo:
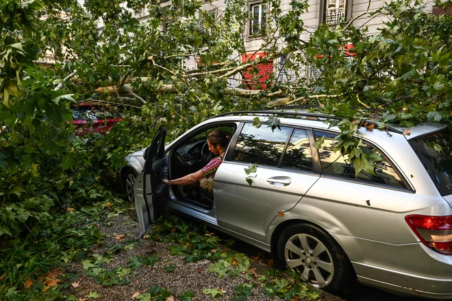
<instances>
[{"instance_id":1,"label":"red car in background half buried under fallen branches","mask_svg":"<svg viewBox=\"0 0 452 301\"><path fill-rule=\"evenodd\" d=\"M73 125L75 125L78 135L87 132L105 134L112 126L123 120L121 114L114 108L100 102L79 103L71 106L71 109L73 110Z\"/></svg>"}]
</instances>

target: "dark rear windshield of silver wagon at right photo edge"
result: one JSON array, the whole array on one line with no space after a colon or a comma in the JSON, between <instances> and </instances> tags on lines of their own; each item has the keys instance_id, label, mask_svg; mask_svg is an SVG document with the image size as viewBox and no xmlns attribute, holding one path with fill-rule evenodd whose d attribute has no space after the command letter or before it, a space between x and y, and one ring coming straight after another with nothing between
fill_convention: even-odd
<instances>
[{"instance_id":1,"label":"dark rear windshield of silver wagon at right photo edge","mask_svg":"<svg viewBox=\"0 0 452 301\"><path fill-rule=\"evenodd\" d=\"M441 195L452 194L451 131L429 134L410 140L410 145Z\"/></svg>"}]
</instances>

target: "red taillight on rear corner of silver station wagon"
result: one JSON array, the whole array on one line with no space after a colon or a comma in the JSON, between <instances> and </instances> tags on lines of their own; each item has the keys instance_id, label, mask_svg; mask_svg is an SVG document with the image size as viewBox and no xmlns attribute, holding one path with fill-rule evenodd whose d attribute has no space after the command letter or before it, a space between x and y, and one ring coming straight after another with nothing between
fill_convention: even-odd
<instances>
[{"instance_id":1,"label":"red taillight on rear corner of silver station wagon","mask_svg":"<svg viewBox=\"0 0 452 301\"><path fill-rule=\"evenodd\" d=\"M405 221L427 247L441 254L452 255L452 215L408 215Z\"/></svg>"}]
</instances>

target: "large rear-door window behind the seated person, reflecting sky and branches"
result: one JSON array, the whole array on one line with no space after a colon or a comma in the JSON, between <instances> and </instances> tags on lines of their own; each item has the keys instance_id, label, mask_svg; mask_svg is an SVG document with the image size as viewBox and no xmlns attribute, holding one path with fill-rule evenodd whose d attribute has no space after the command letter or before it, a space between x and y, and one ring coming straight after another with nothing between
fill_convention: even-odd
<instances>
[{"instance_id":1,"label":"large rear-door window behind the seated person, reflecting sky and branches","mask_svg":"<svg viewBox=\"0 0 452 301\"><path fill-rule=\"evenodd\" d=\"M234 149L234 159L277 167L290 130L281 126L272 131L265 125L256 128L251 123L245 123Z\"/></svg>"}]
</instances>

